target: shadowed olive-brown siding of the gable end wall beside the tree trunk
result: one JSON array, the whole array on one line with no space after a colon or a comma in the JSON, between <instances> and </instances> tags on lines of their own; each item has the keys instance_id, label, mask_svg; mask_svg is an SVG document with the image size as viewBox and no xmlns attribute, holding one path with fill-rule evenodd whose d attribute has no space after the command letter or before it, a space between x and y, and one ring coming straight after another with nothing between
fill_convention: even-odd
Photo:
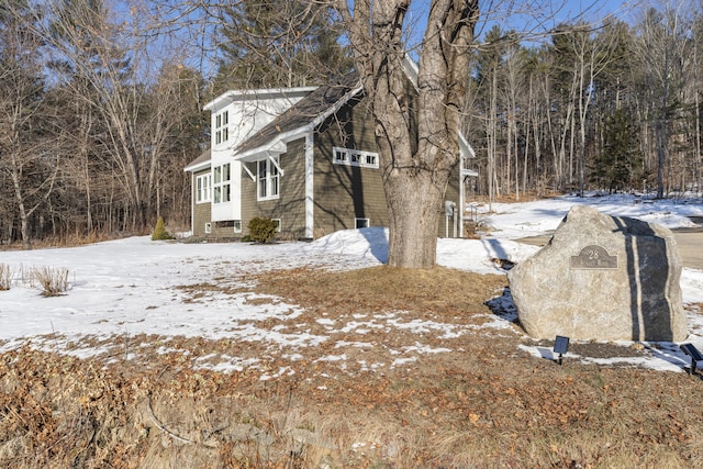
<instances>
[{"instance_id":1,"label":"shadowed olive-brown siding of the gable end wall beside the tree trunk","mask_svg":"<svg viewBox=\"0 0 703 469\"><path fill-rule=\"evenodd\" d=\"M369 219L388 226L386 192L380 169L333 163L333 147L377 152L373 120L364 100L353 99L324 122L314 143L314 236L355 227Z\"/></svg>"}]
</instances>

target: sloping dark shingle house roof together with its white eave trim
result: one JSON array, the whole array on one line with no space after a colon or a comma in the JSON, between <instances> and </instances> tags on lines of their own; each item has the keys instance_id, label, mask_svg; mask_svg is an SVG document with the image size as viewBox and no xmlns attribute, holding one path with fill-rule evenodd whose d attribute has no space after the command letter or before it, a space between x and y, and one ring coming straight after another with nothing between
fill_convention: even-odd
<instances>
[{"instance_id":1,"label":"sloping dark shingle house roof together with its white eave trim","mask_svg":"<svg viewBox=\"0 0 703 469\"><path fill-rule=\"evenodd\" d=\"M361 90L357 74L319 87L236 147L235 158L246 160L267 150L280 153L287 141L311 132Z\"/></svg>"}]
</instances>

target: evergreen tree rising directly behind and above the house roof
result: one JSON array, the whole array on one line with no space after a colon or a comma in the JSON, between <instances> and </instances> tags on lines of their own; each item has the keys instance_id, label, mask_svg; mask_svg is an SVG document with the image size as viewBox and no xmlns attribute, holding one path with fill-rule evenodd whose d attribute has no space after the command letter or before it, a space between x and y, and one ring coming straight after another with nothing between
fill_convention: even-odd
<instances>
[{"instance_id":1,"label":"evergreen tree rising directly behind and above the house roof","mask_svg":"<svg viewBox=\"0 0 703 469\"><path fill-rule=\"evenodd\" d=\"M352 68L324 2L244 0L224 13L215 92L320 85Z\"/></svg>"}]
</instances>

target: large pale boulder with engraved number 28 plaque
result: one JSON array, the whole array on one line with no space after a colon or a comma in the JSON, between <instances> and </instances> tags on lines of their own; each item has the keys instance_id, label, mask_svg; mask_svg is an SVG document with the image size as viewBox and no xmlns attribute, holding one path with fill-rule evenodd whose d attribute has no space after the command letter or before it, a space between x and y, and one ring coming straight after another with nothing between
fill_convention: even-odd
<instances>
[{"instance_id":1,"label":"large pale boulder with engraved number 28 plaque","mask_svg":"<svg viewBox=\"0 0 703 469\"><path fill-rule=\"evenodd\" d=\"M574 206L551 241L507 275L536 338L681 342L681 259L671 231Z\"/></svg>"}]
</instances>

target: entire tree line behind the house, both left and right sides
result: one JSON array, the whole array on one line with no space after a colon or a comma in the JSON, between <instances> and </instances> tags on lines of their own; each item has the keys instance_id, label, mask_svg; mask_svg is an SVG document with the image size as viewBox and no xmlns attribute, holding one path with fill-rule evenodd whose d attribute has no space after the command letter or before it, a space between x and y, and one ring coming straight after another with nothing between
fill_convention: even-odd
<instances>
[{"instance_id":1,"label":"entire tree line behind the house, both left and right sides","mask_svg":"<svg viewBox=\"0 0 703 469\"><path fill-rule=\"evenodd\" d=\"M701 191L702 16L638 13L475 42L476 194ZM0 243L187 228L202 105L350 71L344 24L304 0L0 0Z\"/></svg>"}]
</instances>

